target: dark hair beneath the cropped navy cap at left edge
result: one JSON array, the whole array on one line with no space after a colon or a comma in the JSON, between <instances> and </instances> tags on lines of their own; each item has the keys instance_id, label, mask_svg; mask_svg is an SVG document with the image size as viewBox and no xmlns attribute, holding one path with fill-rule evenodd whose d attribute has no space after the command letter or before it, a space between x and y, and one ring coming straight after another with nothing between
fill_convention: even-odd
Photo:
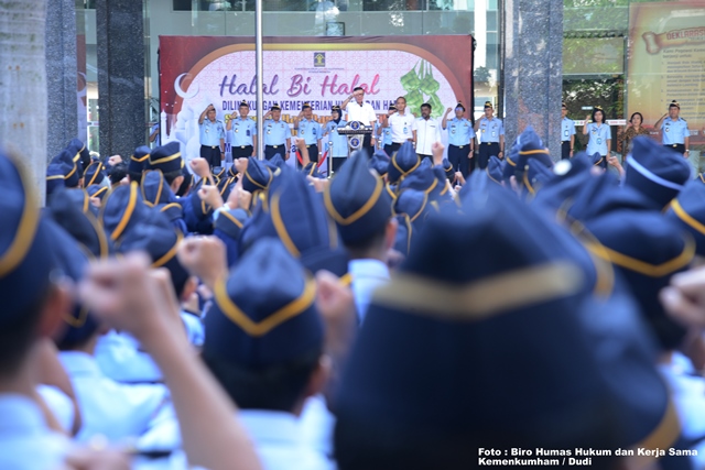
<instances>
[{"instance_id":1,"label":"dark hair beneath the cropped navy cap at left edge","mask_svg":"<svg viewBox=\"0 0 705 470\"><path fill-rule=\"evenodd\" d=\"M18 372L33 343L35 328L46 304L51 287L39 293L32 303L11 323L0 328L0 376L11 376Z\"/></svg>"}]
</instances>

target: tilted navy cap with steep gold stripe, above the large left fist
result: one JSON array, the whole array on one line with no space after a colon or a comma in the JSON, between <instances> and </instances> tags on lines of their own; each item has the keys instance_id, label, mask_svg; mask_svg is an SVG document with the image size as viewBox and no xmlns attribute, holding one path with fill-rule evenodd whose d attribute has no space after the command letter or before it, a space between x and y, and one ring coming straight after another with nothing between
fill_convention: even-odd
<instances>
[{"instance_id":1,"label":"tilted navy cap with steep gold stripe, above the large left fist","mask_svg":"<svg viewBox=\"0 0 705 470\"><path fill-rule=\"evenodd\" d=\"M100 207L99 220L110 236L110 240L120 240L126 231L147 219L148 207L135 182L129 186L116 187Z\"/></svg>"}]
</instances>

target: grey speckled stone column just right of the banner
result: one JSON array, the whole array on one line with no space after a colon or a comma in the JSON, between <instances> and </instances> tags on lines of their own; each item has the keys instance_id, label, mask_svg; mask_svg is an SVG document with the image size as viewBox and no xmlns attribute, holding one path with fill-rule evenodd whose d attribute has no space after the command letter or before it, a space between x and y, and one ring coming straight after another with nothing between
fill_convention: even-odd
<instances>
[{"instance_id":1,"label":"grey speckled stone column just right of the banner","mask_svg":"<svg viewBox=\"0 0 705 470\"><path fill-rule=\"evenodd\" d=\"M532 125L561 160L563 1L506 0L503 28L507 151Z\"/></svg>"}]
</instances>

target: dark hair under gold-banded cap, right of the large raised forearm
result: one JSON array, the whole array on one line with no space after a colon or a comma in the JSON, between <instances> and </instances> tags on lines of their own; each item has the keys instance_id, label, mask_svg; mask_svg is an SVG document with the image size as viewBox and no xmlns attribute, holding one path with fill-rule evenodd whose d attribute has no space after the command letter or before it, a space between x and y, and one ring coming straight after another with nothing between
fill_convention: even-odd
<instances>
[{"instance_id":1,"label":"dark hair under gold-banded cap, right of the large raised forearm","mask_svg":"<svg viewBox=\"0 0 705 470\"><path fill-rule=\"evenodd\" d=\"M204 361L230 398L242 409L291 413L303 397L322 350L304 353L290 362L262 369L246 368L215 354Z\"/></svg>"}]
</instances>

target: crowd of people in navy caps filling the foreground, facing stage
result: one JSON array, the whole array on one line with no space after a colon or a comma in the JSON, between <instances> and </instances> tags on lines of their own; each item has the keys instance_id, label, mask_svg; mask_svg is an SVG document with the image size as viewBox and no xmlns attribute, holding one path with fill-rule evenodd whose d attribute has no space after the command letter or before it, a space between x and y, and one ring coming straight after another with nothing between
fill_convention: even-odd
<instances>
[{"instance_id":1,"label":"crowd of people in navy caps filling the foreground, facing stage","mask_svg":"<svg viewBox=\"0 0 705 470\"><path fill-rule=\"evenodd\" d=\"M0 154L0 468L703 468L705 178L490 112L466 181L403 105L332 178L74 140L40 209Z\"/></svg>"}]
</instances>

